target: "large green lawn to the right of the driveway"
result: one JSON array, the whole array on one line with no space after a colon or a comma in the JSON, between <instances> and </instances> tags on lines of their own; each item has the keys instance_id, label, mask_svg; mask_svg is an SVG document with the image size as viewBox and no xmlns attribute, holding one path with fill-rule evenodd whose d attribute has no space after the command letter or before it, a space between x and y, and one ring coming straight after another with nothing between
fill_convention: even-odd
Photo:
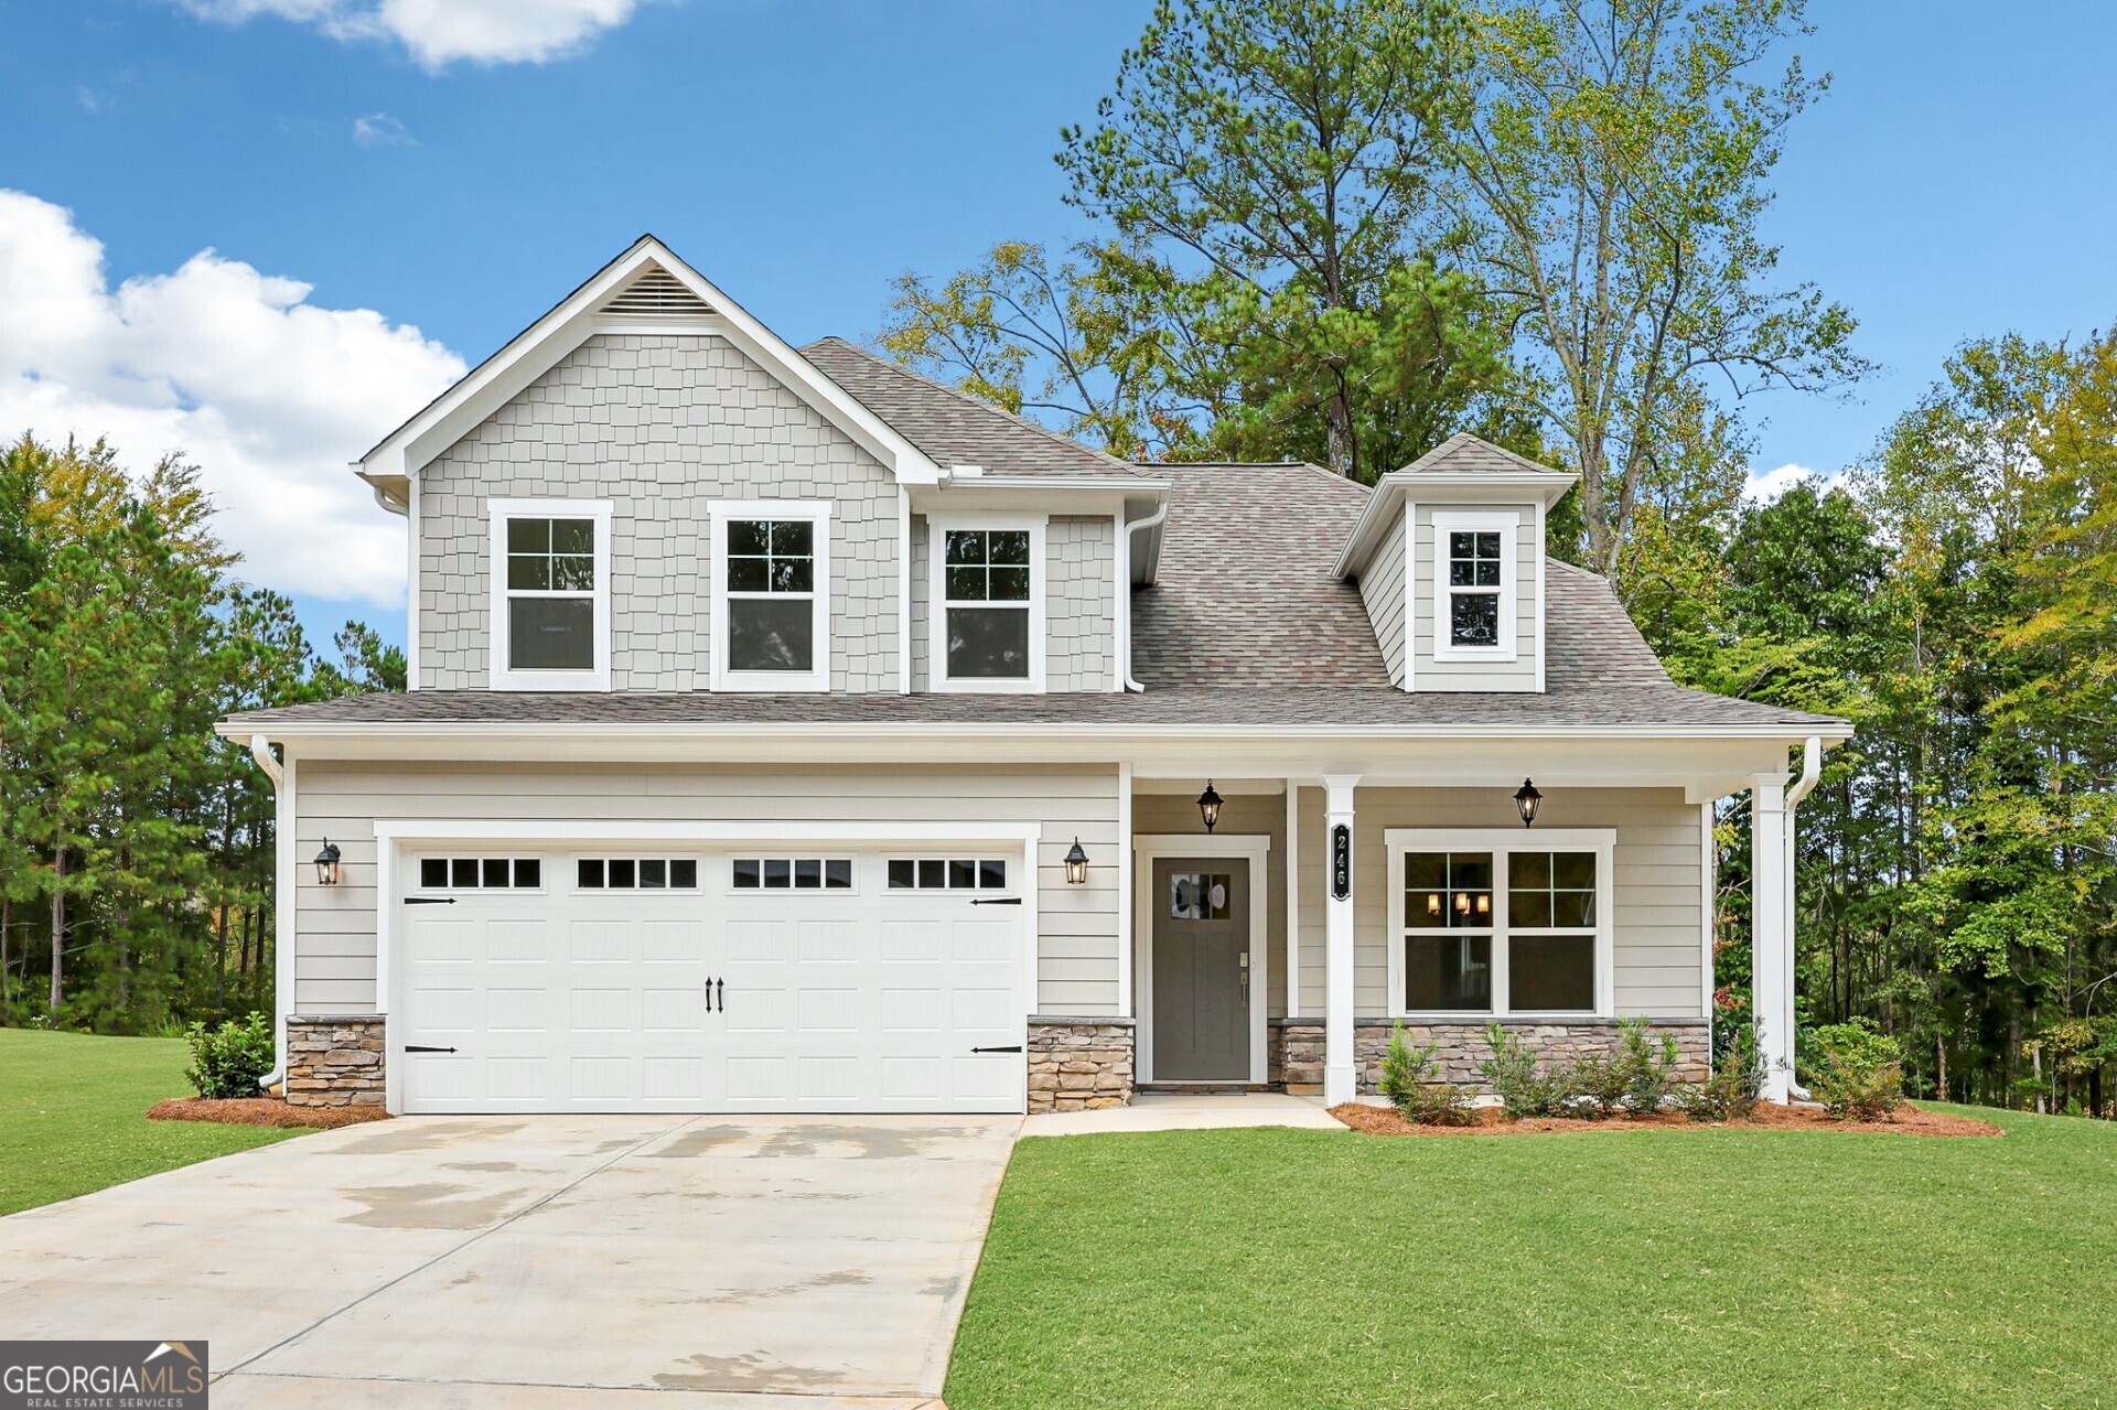
<instances>
[{"instance_id":1,"label":"large green lawn to the right of the driveway","mask_svg":"<svg viewBox=\"0 0 2117 1410\"><path fill-rule=\"evenodd\" d=\"M2117 1126L1029 1139L951 1410L2117 1406Z\"/></svg>"}]
</instances>

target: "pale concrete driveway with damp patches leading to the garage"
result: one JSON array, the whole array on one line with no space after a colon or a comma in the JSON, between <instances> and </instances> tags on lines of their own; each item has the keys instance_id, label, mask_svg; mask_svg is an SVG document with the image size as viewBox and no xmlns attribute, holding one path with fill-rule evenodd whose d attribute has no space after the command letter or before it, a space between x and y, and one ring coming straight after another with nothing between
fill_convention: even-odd
<instances>
[{"instance_id":1,"label":"pale concrete driveway with damp patches leading to the garage","mask_svg":"<svg viewBox=\"0 0 2117 1410\"><path fill-rule=\"evenodd\" d=\"M216 1410L925 1406L1018 1126L349 1126L0 1219L0 1327L205 1340Z\"/></svg>"}]
</instances>

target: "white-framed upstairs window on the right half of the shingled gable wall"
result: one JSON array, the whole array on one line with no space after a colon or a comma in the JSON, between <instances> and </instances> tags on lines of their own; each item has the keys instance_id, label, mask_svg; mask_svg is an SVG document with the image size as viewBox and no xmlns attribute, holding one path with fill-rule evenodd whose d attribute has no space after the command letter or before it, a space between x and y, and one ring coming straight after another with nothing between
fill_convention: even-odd
<instances>
[{"instance_id":1,"label":"white-framed upstairs window on the right half of the shingled gable wall","mask_svg":"<svg viewBox=\"0 0 2117 1410\"><path fill-rule=\"evenodd\" d=\"M830 688L830 504L716 504L713 690Z\"/></svg>"}]
</instances>

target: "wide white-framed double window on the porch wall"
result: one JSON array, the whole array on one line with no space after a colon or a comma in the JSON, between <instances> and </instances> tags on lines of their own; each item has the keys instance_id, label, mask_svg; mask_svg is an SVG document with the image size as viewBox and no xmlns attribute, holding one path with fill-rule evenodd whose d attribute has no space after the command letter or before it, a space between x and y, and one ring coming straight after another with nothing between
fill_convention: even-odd
<instances>
[{"instance_id":1,"label":"wide white-framed double window on the porch wall","mask_svg":"<svg viewBox=\"0 0 2117 1410\"><path fill-rule=\"evenodd\" d=\"M1607 1016L1613 1006L1607 828L1393 828L1391 1012Z\"/></svg>"}]
</instances>

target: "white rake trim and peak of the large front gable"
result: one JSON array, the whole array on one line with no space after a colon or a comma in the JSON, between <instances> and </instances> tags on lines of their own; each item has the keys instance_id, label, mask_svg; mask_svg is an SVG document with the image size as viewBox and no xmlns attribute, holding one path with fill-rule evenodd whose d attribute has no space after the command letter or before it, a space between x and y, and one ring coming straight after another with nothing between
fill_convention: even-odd
<instances>
[{"instance_id":1,"label":"white rake trim and peak of the large front gable","mask_svg":"<svg viewBox=\"0 0 2117 1410\"><path fill-rule=\"evenodd\" d=\"M900 483L931 485L940 478L940 468L925 451L851 392L824 377L777 332L713 288L705 275L652 235L641 235L620 256L589 275L572 294L508 339L500 351L470 368L455 385L383 436L375 449L354 462L354 468L377 487L400 485L415 476L430 459L597 332L639 332L661 326L652 322L656 309L646 307L641 294L650 294L661 305L658 311L671 320L669 326L711 330L741 347L794 396L860 442ZM684 294L690 299L686 301Z\"/></svg>"}]
</instances>

